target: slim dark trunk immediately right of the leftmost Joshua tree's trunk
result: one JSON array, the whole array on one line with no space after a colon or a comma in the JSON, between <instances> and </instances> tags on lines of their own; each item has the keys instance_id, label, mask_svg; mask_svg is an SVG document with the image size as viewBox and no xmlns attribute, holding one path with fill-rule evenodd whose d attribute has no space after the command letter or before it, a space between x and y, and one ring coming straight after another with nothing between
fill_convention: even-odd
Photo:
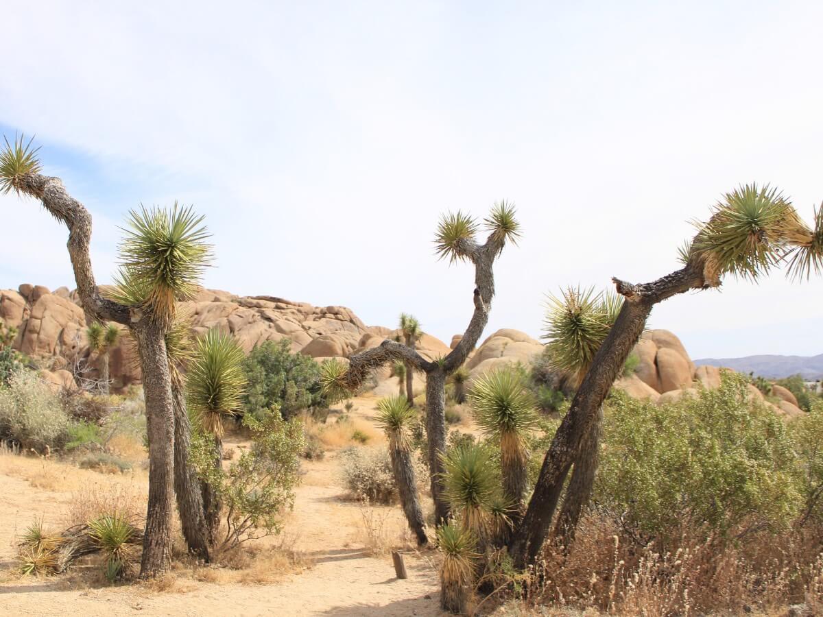
<instances>
[{"instance_id":1,"label":"slim dark trunk immediately right of the leftmost Joshua tree's trunk","mask_svg":"<svg viewBox=\"0 0 823 617\"><path fill-rule=\"evenodd\" d=\"M183 383L173 379L171 390L174 397L174 494L177 496L180 525L189 552L208 562L209 538L200 480L188 462L192 427L186 413Z\"/></svg>"}]
</instances>

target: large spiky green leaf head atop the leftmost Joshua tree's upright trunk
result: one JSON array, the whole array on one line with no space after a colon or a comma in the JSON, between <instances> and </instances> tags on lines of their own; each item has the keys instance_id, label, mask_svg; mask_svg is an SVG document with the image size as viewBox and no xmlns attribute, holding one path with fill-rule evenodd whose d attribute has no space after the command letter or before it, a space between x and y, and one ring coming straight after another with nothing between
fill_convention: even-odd
<instances>
[{"instance_id":1,"label":"large spiky green leaf head atop the leftmost Joshua tree's upright trunk","mask_svg":"<svg viewBox=\"0 0 823 617\"><path fill-rule=\"evenodd\" d=\"M119 290L114 298L147 308L156 322L170 327L175 301L193 297L212 258L202 221L191 206L177 203L171 211L157 207L131 211L120 245Z\"/></svg>"}]
</instances>

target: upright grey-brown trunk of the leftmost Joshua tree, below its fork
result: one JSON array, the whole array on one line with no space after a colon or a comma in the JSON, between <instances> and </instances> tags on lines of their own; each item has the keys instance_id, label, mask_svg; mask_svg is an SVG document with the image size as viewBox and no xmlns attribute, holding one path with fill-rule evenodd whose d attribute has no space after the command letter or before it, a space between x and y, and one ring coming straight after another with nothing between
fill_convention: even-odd
<instances>
[{"instance_id":1,"label":"upright grey-brown trunk of the leftmost Joshua tree, below its fork","mask_svg":"<svg viewBox=\"0 0 823 617\"><path fill-rule=\"evenodd\" d=\"M146 321L134 328L134 334L140 350L149 440L149 501L140 576L152 578L168 567L171 556L174 402L163 332L156 324Z\"/></svg>"}]
</instances>

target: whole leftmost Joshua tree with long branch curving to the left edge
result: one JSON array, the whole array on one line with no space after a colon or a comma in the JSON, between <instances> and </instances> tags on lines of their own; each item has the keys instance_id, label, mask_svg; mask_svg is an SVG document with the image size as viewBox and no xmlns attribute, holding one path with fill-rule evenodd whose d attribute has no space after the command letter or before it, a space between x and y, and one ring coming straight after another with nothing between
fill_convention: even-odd
<instances>
[{"instance_id":1,"label":"whole leftmost Joshua tree with long branch curving to the left edge","mask_svg":"<svg viewBox=\"0 0 823 617\"><path fill-rule=\"evenodd\" d=\"M152 577L168 565L174 492L174 403L165 335L174 321L176 301L191 297L208 262L207 234L202 217L190 208L175 205L171 212L132 211L121 246L119 288L105 298L91 269L91 215L67 193L60 179L41 171L31 141L25 143L22 137L13 144L6 141L0 151L0 191L35 197L67 226L68 253L86 314L128 327L140 350L149 440L148 510L140 573L143 578Z\"/></svg>"}]
</instances>

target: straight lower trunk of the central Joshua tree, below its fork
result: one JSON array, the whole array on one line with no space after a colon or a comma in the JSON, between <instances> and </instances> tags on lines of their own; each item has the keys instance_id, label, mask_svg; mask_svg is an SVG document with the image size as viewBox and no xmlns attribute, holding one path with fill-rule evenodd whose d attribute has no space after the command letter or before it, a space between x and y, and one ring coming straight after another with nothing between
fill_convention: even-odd
<instances>
[{"instance_id":1,"label":"straight lower trunk of the central Joshua tree, below its fork","mask_svg":"<svg viewBox=\"0 0 823 617\"><path fill-rule=\"evenodd\" d=\"M435 525L449 519L449 503L443 494L443 462L446 452L446 374L434 369L425 376L425 434L429 441L431 498L435 500Z\"/></svg>"}]
</instances>

